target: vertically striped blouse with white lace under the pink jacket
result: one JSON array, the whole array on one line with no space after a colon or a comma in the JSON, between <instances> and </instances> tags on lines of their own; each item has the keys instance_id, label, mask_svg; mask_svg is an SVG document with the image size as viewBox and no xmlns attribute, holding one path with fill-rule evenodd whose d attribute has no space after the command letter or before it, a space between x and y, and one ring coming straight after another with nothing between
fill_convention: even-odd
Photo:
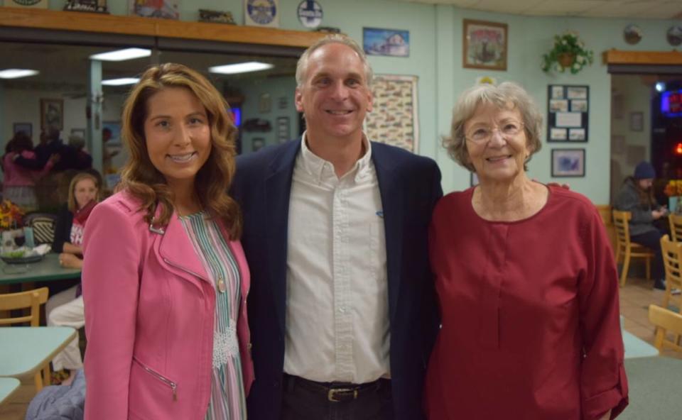
<instances>
[{"instance_id":1,"label":"vertically striped blouse with white lace under the pink jacket","mask_svg":"<svg viewBox=\"0 0 682 420\"><path fill-rule=\"evenodd\" d=\"M204 212L180 217L216 289L211 398L205 420L245 420L247 404L237 341L240 282L237 260Z\"/></svg>"}]
</instances>

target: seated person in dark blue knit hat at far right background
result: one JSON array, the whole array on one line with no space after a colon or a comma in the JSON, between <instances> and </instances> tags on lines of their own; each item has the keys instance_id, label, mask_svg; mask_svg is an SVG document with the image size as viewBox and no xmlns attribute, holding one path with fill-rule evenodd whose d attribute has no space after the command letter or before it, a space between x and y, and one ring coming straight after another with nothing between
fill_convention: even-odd
<instances>
[{"instance_id":1,"label":"seated person in dark blue knit hat at far right background","mask_svg":"<svg viewBox=\"0 0 682 420\"><path fill-rule=\"evenodd\" d=\"M668 214L666 206L659 206L654 198L654 178L656 170L651 163L642 161L634 168L632 177L627 177L618 192L614 208L629 211L630 238L633 242L646 246L654 251L654 265L651 275L654 277L655 289L666 289L666 273L661 254L661 236L665 232L654 226L654 221Z\"/></svg>"}]
</instances>

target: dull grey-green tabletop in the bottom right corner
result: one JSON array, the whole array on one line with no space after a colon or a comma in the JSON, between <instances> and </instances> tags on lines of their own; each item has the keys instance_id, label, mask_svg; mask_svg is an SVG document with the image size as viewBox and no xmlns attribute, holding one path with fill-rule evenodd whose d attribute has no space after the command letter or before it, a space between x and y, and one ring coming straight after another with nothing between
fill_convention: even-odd
<instances>
[{"instance_id":1,"label":"dull grey-green tabletop in the bottom right corner","mask_svg":"<svg viewBox=\"0 0 682 420\"><path fill-rule=\"evenodd\" d=\"M636 358L625 360L630 404L618 420L680 419L682 360Z\"/></svg>"}]
</instances>

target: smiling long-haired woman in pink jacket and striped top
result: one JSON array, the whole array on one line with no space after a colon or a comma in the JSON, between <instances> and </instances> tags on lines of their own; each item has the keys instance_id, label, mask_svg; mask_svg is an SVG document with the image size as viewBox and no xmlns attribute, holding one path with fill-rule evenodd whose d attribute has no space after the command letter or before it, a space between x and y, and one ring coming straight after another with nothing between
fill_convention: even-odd
<instances>
[{"instance_id":1,"label":"smiling long-haired woman in pink jacket and striped top","mask_svg":"<svg viewBox=\"0 0 682 420\"><path fill-rule=\"evenodd\" d=\"M246 419L249 269L226 109L175 64L126 100L130 158L85 228L85 419Z\"/></svg>"}]
</instances>

